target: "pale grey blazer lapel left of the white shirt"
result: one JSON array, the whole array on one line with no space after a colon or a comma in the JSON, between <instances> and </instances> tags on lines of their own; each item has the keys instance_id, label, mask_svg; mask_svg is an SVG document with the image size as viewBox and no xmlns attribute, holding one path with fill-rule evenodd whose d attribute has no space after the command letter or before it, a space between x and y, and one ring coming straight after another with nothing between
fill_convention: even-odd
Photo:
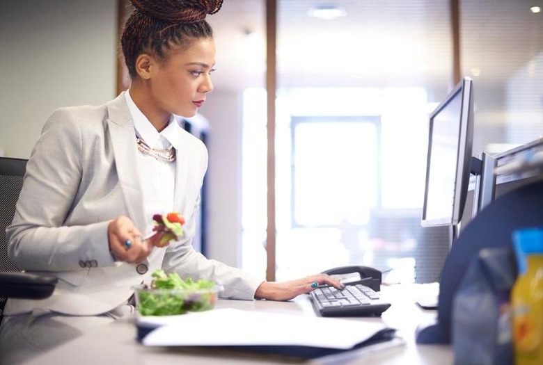
<instances>
[{"instance_id":1,"label":"pale grey blazer lapel left of the white shirt","mask_svg":"<svg viewBox=\"0 0 543 365\"><path fill-rule=\"evenodd\" d=\"M128 215L142 232L145 231L147 220L143 213L143 195L138 175L136 160L138 149L136 146L136 133L134 123L125 101L125 92L121 92L116 99L107 104L109 118L107 120L113 156L123 191Z\"/></svg>"}]
</instances>

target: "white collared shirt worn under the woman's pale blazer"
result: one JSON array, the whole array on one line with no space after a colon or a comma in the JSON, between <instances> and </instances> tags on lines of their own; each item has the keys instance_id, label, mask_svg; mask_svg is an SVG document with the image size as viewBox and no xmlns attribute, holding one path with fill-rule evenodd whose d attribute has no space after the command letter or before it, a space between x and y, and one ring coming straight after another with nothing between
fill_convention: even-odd
<instances>
[{"instance_id":1,"label":"white collared shirt worn under the woman's pale blazer","mask_svg":"<svg viewBox=\"0 0 543 365\"><path fill-rule=\"evenodd\" d=\"M178 149L181 127L173 115L166 128L159 133L148 118L141 113L128 90L125 92L125 99L134 121L137 136L151 148L168 148L169 145L172 145L176 150ZM134 135L134 139L136 135ZM154 214L166 214L174 210L175 165L175 161L164 163L142 152L138 154L139 179L143 188L143 209L145 218L147 218L145 232L141 232L143 236L152 232L152 216Z\"/></svg>"}]
</instances>

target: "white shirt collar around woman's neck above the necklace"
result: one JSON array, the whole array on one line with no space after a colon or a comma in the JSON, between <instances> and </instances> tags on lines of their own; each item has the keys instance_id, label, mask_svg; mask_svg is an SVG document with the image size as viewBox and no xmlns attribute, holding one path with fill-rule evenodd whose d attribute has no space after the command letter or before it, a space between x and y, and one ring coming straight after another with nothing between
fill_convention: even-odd
<instances>
[{"instance_id":1,"label":"white shirt collar around woman's neck above the necklace","mask_svg":"<svg viewBox=\"0 0 543 365\"><path fill-rule=\"evenodd\" d=\"M132 120L134 121L134 129L136 129L136 134L141 137L145 143L147 143L147 145L150 147L164 148L167 147L164 145L166 144L164 143L164 139L166 139L166 141L170 143L173 148L178 149L179 129L181 127L180 120L178 120L175 115L171 115L168 125L159 133L157 129L152 126L148 118L141 113L138 106L136 106L136 103L134 103L134 100L132 100L132 97L130 97L128 90L125 92L125 100L127 102L130 115L132 115ZM163 138L161 138L161 136Z\"/></svg>"}]
</instances>

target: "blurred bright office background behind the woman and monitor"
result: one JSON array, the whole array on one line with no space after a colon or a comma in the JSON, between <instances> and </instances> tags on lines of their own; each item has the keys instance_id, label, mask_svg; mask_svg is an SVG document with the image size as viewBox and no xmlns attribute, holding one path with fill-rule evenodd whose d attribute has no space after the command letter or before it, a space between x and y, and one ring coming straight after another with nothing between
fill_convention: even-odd
<instances>
[{"instance_id":1,"label":"blurred bright office background behind the woman and monitor","mask_svg":"<svg viewBox=\"0 0 543 365\"><path fill-rule=\"evenodd\" d=\"M54 108L116 96L120 1L0 0L0 154L28 158ZM540 138L543 1L274 3L274 278L363 264L390 270L390 282L438 280L448 229L420 227L428 113L471 76L475 156ZM217 72L201 110L205 254L260 277L269 262L266 8L225 0L207 18Z\"/></svg>"}]
</instances>

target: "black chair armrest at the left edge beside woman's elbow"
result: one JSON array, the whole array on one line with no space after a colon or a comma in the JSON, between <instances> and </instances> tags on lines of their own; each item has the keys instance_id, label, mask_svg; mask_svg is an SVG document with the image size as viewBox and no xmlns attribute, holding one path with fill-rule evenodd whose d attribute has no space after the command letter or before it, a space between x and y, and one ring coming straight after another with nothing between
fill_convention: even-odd
<instances>
[{"instance_id":1,"label":"black chair armrest at the left edge beside woman's elbow","mask_svg":"<svg viewBox=\"0 0 543 365\"><path fill-rule=\"evenodd\" d=\"M31 273L0 273L0 296L45 299L53 293L58 279Z\"/></svg>"}]
</instances>

